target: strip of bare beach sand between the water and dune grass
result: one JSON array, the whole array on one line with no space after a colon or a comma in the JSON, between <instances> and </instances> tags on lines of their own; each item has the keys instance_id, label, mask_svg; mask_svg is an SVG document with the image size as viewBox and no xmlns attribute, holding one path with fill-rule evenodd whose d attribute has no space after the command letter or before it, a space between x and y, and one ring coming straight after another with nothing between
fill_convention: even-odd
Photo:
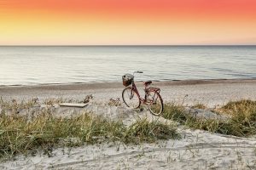
<instances>
[{"instance_id":1,"label":"strip of bare beach sand between the water and dune grass","mask_svg":"<svg viewBox=\"0 0 256 170\"><path fill-rule=\"evenodd\" d=\"M209 107L224 105L229 101L256 100L256 79L232 80L184 80L153 82L153 87L160 88L164 103L181 105L204 104ZM3 100L76 99L83 100L92 95L96 103L106 104L110 99L122 101L122 82L58 84L44 86L0 87ZM143 96L143 82L137 82L139 93Z\"/></svg>"}]
</instances>

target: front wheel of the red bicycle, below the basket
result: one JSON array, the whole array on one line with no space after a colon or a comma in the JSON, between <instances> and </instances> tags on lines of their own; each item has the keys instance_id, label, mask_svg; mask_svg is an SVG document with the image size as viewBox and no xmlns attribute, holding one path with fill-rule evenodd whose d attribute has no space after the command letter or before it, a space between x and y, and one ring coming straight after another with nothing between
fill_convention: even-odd
<instances>
[{"instance_id":1,"label":"front wheel of the red bicycle, below the basket","mask_svg":"<svg viewBox=\"0 0 256 170\"><path fill-rule=\"evenodd\" d=\"M132 109L137 109L141 105L138 94L131 87L127 87L123 90L122 98L125 105Z\"/></svg>"}]
</instances>

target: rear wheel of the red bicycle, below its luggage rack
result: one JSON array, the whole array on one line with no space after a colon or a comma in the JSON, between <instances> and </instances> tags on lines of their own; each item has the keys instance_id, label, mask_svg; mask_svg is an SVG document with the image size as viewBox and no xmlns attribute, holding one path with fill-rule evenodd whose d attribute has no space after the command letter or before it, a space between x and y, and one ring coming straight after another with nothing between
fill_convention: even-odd
<instances>
[{"instance_id":1,"label":"rear wheel of the red bicycle, below its luggage rack","mask_svg":"<svg viewBox=\"0 0 256 170\"><path fill-rule=\"evenodd\" d=\"M163 99L156 91L149 91L147 94L148 110L155 116L160 116L164 110Z\"/></svg>"}]
</instances>

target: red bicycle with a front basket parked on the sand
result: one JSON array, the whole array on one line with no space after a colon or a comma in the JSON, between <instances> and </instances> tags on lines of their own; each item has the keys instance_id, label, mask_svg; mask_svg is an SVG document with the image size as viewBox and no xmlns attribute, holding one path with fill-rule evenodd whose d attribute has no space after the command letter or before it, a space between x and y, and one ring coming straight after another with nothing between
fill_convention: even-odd
<instances>
[{"instance_id":1,"label":"red bicycle with a front basket parked on the sand","mask_svg":"<svg viewBox=\"0 0 256 170\"><path fill-rule=\"evenodd\" d=\"M143 71L134 71L133 75L125 74L123 78L123 85L126 87L122 92L122 98L127 107L137 109L141 103L148 105L148 110L154 116L160 116L164 110L163 99L160 96L160 88L148 87L152 81L143 82L144 84L144 99L140 96L134 82L134 74L143 73ZM131 85L131 86L130 86Z\"/></svg>"}]
</instances>

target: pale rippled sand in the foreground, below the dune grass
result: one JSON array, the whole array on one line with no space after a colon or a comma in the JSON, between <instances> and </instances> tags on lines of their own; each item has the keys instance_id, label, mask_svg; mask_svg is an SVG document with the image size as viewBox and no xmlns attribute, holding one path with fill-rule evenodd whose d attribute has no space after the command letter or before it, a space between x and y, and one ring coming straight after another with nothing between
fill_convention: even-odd
<instances>
[{"instance_id":1,"label":"pale rippled sand in the foreground, below the dune grass","mask_svg":"<svg viewBox=\"0 0 256 170\"><path fill-rule=\"evenodd\" d=\"M255 139L183 130L183 139L158 144L60 148L52 156L19 156L1 169L255 169Z\"/></svg>"}]
</instances>

